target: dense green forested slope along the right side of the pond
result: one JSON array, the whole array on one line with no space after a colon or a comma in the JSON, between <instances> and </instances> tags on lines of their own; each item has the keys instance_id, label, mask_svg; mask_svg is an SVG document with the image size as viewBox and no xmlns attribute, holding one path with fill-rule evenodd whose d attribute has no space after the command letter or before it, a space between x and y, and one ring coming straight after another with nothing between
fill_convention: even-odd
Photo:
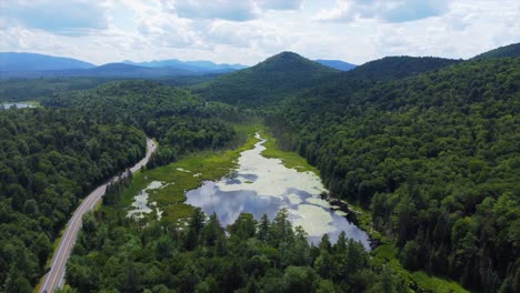
<instances>
[{"instance_id":1,"label":"dense green forested slope along the right side of the pond","mask_svg":"<svg viewBox=\"0 0 520 293\"><path fill-rule=\"evenodd\" d=\"M410 270L520 291L520 58L344 78L267 121L329 190L370 208Z\"/></svg>"}]
</instances>

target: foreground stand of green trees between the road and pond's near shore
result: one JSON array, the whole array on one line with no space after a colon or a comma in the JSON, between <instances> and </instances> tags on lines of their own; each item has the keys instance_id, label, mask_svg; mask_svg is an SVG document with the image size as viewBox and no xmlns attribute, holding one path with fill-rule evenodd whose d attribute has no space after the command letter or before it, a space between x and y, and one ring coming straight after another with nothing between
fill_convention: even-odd
<instances>
[{"instance_id":1,"label":"foreground stand of green trees between the road and pond's near shore","mask_svg":"<svg viewBox=\"0 0 520 293\"><path fill-rule=\"evenodd\" d=\"M272 221L241 214L226 230L199 209L184 229L142 228L108 209L83 221L66 276L78 292L407 292L344 233L309 245L283 210Z\"/></svg>"}]
</instances>

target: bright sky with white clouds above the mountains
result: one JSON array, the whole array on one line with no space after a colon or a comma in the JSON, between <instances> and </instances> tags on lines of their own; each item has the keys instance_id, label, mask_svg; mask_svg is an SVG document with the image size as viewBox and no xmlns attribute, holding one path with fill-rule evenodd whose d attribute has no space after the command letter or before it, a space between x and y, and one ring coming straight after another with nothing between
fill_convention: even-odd
<instances>
[{"instance_id":1,"label":"bright sky with white clouds above the mountains","mask_svg":"<svg viewBox=\"0 0 520 293\"><path fill-rule=\"evenodd\" d=\"M0 51L256 64L281 51L362 64L467 59L520 42L518 0L0 0Z\"/></svg>"}]
</instances>

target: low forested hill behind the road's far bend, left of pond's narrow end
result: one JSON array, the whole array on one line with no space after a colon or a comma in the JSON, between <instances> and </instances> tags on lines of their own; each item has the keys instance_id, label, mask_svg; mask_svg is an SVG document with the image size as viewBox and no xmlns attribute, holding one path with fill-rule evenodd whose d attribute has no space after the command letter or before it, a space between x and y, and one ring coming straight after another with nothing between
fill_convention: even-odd
<instances>
[{"instance_id":1,"label":"low forested hill behind the road's far bend, left of pond's narrow end","mask_svg":"<svg viewBox=\"0 0 520 293\"><path fill-rule=\"evenodd\" d=\"M151 81L111 82L90 91L59 93L42 104L78 109L102 123L142 129L160 144L151 166L173 162L187 152L224 148L237 139L230 123L251 117L249 111L208 103L189 91Z\"/></svg>"}]
</instances>

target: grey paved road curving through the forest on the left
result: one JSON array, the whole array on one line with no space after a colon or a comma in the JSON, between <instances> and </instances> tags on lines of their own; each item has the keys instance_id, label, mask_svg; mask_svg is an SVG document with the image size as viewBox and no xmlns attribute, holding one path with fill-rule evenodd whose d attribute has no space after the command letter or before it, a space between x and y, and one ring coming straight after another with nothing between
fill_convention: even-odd
<instances>
[{"instance_id":1,"label":"grey paved road curving through the forest on the left","mask_svg":"<svg viewBox=\"0 0 520 293\"><path fill-rule=\"evenodd\" d=\"M147 155L134 166L130 168L130 172L134 173L143 165L146 165L150 160L150 155L156 151L156 143L153 143L152 140L147 139ZM110 181L116 181L117 178L118 176L114 176ZM74 211L72 219L70 219L69 223L67 224L66 231L60 241L60 245L58 246L57 251L54 251L51 270L43 279L44 281L43 285L40 287L40 293L51 293L54 292L56 289L63 285L67 260L70 256L72 247L74 246L78 231L81 229L81 220L83 215L91 211L101 200L104 191L107 190L107 184L108 183L104 183L92 191Z\"/></svg>"}]
</instances>

